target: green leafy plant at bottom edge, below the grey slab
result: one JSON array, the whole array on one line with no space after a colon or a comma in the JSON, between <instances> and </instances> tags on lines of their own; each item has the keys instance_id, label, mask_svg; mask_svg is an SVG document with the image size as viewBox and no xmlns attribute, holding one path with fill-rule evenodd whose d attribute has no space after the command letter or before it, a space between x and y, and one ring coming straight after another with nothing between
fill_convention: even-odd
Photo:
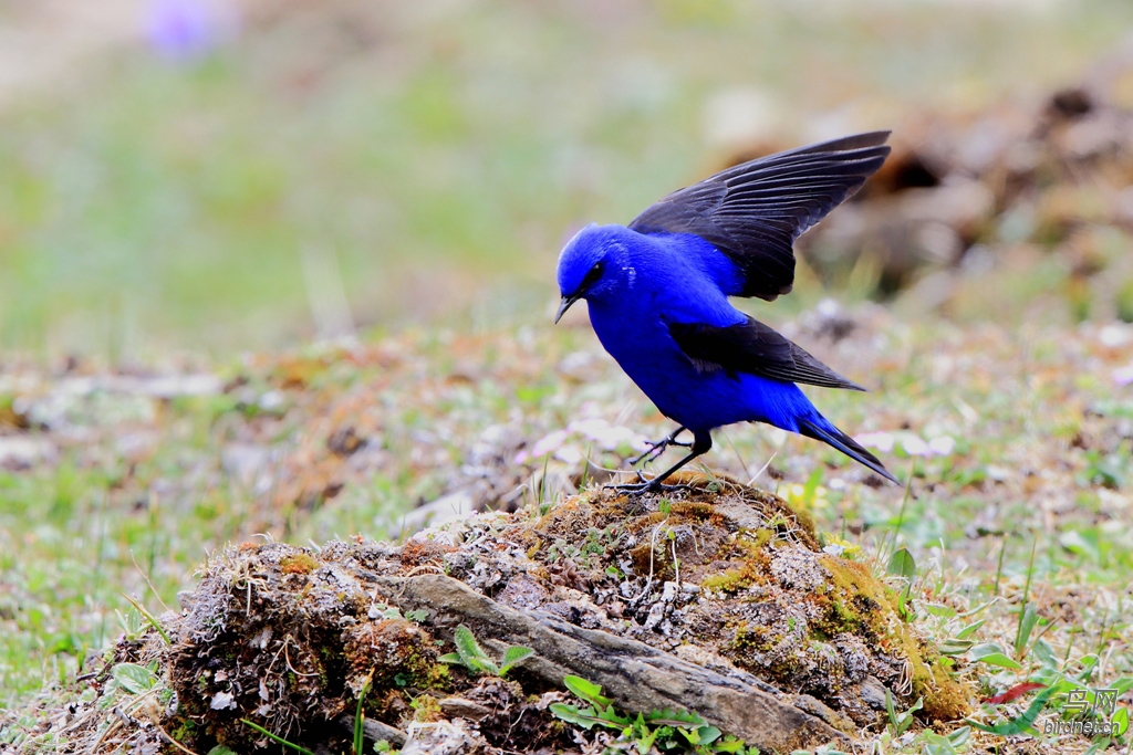
<instances>
[{"instance_id":1,"label":"green leafy plant at bottom edge, below the grey slab","mask_svg":"<svg viewBox=\"0 0 1133 755\"><path fill-rule=\"evenodd\" d=\"M565 703L553 703L551 712L554 713L555 718L587 731L594 727L614 729L620 732L620 743L636 746L640 755L647 755L655 748L663 753L759 755L757 748L749 748L740 739L721 737L719 729L709 726L697 713L665 709L630 717L619 712L614 707L613 701L603 696L602 687L593 681L587 681L581 677L566 676L563 684L587 705L579 707Z\"/></svg>"}]
</instances>

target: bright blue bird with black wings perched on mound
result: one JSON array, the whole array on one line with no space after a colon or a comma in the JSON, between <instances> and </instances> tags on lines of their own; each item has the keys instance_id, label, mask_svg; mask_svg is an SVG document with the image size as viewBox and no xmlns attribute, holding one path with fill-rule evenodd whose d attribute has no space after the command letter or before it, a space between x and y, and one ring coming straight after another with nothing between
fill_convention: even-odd
<instances>
[{"instance_id":1,"label":"bright blue bird with black wings perched on mound","mask_svg":"<svg viewBox=\"0 0 1133 755\"><path fill-rule=\"evenodd\" d=\"M864 388L729 302L791 291L794 240L881 166L888 136L860 134L730 168L674 191L629 226L591 224L566 243L555 323L585 299L602 345L680 426L631 463L671 445L689 448L665 472L620 489L668 488L666 478L712 448L712 431L734 422L821 440L897 481L796 384ZM678 441L685 430L692 441Z\"/></svg>"}]
</instances>

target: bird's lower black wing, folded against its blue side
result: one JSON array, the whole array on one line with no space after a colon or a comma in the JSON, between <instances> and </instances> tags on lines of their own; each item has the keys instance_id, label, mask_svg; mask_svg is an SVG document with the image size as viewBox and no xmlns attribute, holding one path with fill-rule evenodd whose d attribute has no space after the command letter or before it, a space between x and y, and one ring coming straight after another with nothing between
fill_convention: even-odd
<instances>
[{"instance_id":1,"label":"bird's lower black wing, folded against its blue side","mask_svg":"<svg viewBox=\"0 0 1133 755\"><path fill-rule=\"evenodd\" d=\"M864 391L759 320L727 327L670 323L668 333L701 372L750 372L787 383Z\"/></svg>"}]
</instances>

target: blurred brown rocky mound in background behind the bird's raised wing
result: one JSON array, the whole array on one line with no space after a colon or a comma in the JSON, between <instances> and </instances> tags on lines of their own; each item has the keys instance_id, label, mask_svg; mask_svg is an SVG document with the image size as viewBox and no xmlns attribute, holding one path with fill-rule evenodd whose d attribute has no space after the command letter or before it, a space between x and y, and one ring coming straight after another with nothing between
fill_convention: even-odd
<instances>
[{"instance_id":1,"label":"blurred brown rocky mound in background behind the bird's raised wing","mask_svg":"<svg viewBox=\"0 0 1133 755\"><path fill-rule=\"evenodd\" d=\"M1131 105L1133 37L1043 98L909 115L883 169L803 237L803 255L827 282L864 269L871 295L956 315L994 316L1007 292L980 278L1045 263L1073 317L1131 321Z\"/></svg>"}]
</instances>

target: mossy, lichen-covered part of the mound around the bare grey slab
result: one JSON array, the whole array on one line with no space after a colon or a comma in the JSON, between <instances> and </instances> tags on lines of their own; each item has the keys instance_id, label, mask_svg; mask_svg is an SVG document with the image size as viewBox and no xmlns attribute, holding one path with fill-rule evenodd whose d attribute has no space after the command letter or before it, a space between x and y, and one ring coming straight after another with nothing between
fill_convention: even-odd
<instances>
[{"instance_id":1,"label":"mossy, lichen-covered part of the mound around the bare grey slab","mask_svg":"<svg viewBox=\"0 0 1133 755\"><path fill-rule=\"evenodd\" d=\"M484 707L471 700L486 694L483 677L438 660L453 627L402 612L389 589L390 578L423 573L706 668L742 669L851 736L884 721L885 689L898 706L923 698L928 719L968 712L966 689L866 564L824 552L811 522L775 496L680 480L690 487L676 495L588 491L540 516L480 514L400 547L230 548L174 623L167 663L180 707L168 723L198 752L265 744L241 719L349 748L334 722L364 689L367 717L401 730ZM493 647L492 626L472 628ZM536 741L569 748L562 722L533 703L553 689L518 668L496 689L506 702L497 695L488 706L494 724L477 736L520 752ZM520 729L509 726L520 718ZM530 741L504 733L513 731Z\"/></svg>"}]
</instances>

